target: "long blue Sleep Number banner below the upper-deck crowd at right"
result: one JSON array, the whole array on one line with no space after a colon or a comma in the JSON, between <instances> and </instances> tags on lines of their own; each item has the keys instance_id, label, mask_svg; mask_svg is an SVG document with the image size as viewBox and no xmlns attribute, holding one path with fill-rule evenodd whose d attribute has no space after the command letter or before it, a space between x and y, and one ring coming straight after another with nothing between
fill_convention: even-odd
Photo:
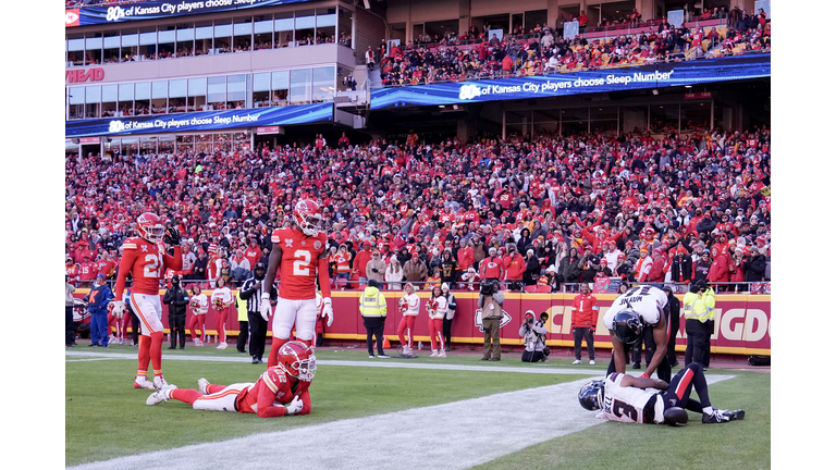
<instances>
[{"instance_id":1,"label":"long blue Sleep Number banner below the upper-deck crowd at right","mask_svg":"<svg viewBox=\"0 0 836 470\"><path fill-rule=\"evenodd\" d=\"M771 54L735 55L690 62L605 69L576 73L391 87L371 91L371 109L663 88L769 77Z\"/></svg>"}]
</instances>

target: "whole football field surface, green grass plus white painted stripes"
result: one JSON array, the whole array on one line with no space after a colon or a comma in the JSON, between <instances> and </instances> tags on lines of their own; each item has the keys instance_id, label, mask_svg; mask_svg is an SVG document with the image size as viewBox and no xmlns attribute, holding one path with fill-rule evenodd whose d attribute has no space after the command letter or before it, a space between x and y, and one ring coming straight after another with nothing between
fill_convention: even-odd
<instances>
[{"instance_id":1,"label":"whole football field surface, green grass plus white painted stripes","mask_svg":"<svg viewBox=\"0 0 836 470\"><path fill-rule=\"evenodd\" d=\"M83 345L84 343L82 343ZM365 348L319 348L309 416L196 411L170 400L149 407L134 389L132 347L66 351L65 465L111 468L539 469L591 466L770 468L770 374L709 370L712 404L745 409L746 420L685 428L598 420L577 393L598 366L570 358L529 364L477 352L446 359L368 359ZM265 364L234 348L164 350L170 383L255 382ZM675 369L676 372L678 369ZM700 443L696 445L694 443ZM612 449L620 449L613 453ZM710 449L710 450L706 450Z\"/></svg>"}]
</instances>

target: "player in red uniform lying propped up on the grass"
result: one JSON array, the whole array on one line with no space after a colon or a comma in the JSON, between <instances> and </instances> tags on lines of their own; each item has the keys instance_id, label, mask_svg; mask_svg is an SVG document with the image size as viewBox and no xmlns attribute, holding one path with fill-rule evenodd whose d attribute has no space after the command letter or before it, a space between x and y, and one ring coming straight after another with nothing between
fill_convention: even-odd
<instances>
[{"instance_id":1,"label":"player in red uniform lying propped up on the grass","mask_svg":"<svg viewBox=\"0 0 836 470\"><path fill-rule=\"evenodd\" d=\"M213 385L200 379L199 389L169 385L152 393L145 403L157 405L174 398L194 409L257 413L259 418L308 415L308 387L316 371L314 351L304 343L292 341L279 350L279 364L268 368L256 383Z\"/></svg>"}]
</instances>

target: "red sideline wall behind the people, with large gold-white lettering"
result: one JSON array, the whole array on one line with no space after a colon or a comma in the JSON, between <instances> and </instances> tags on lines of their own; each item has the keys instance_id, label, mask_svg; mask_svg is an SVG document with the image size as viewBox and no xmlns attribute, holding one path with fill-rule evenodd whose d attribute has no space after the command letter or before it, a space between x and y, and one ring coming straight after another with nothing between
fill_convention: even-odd
<instances>
[{"instance_id":1,"label":"red sideline wall behind the people, with large gold-white lettering","mask_svg":"<svg viewBox=\"0 0 836 470\"><path fill-rule=\"evenodd\" d=\"M89 289L77 289L75 297L82 298ZM160 290L160 296L164 290ZM204 290L211 296L211 290ZM403 296L401 292L383 292L386 297L386 322L383 329L393 345L397 344L397 325L403 314L397 309L397 300ZM484 333L481 330L481 321L477 301L478 294L470 292L453 292L456 296L456 313L453 319L451 338L454 343L469 343L481 345ZM325 327L327 339L366 341L366 329L362 326L362 318L359 313L360 292L334 292L332 300L334 307L334 322ZM415 342L422 342L429 348L430 326L427 313L427 299L430 293L418 293L421 308L415 322L413 333ZM597 294L600 307L598 326L595 329L595 348L611 349L610 334L603 325L603 318L607 309L615 300L615 294ZM681 301L683 296L677 296ZM505 293L503 318L500 327L500 337L503 345L519 346L522 344L519 327L522 325L522 317L527 310L532 310L539 318L541 312L549 314L546 323L546 344L549 346L571 347L575 343L571 336L571 304L575 294L512 294ZM162 323L168 332L168 307L162 306ZM192 312L188 312L192 317ZM715 307L714 334L711 337L711 350L714 354L734 355L770 355L772 348L771 297L767 295L720 295ZM218 313L209 309L206 318L206 327L209 334L217 334ZM238 332L237 314L234 307L230 308L226 321L226 332L235 336ZM229 343L229 341L228 341ZM679 332L676 335L676 349L684 351L687 344L685 334L685 318L679 319Z\"/></svg>"}]
</instances>

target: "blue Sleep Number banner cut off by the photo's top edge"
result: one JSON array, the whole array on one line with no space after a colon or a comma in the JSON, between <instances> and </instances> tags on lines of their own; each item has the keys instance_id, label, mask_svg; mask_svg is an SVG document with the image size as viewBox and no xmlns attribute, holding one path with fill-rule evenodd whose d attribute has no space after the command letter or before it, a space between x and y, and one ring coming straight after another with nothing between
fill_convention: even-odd
<instances>
[{"instance_id":1,"label":"blue Sleep Number banner cut off by the photo's top edge","mask_svg":"<svg viewBox=\"0 0 836 470\"><path fill-rule=\"evenodd\" d=\"M275 7L311 0L180 0L126 3L112 7L88 7L64 11L64 27L136 20L159 20L187 14Z\"/></svg>"}]
</instances>

